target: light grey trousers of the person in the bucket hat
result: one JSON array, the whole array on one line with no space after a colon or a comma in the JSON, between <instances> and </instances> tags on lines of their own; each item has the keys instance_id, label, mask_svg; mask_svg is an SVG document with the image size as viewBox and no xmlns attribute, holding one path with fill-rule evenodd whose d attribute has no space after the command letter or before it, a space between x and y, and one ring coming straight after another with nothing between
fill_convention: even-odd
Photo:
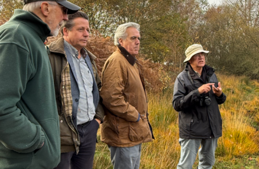
<instances>
[{"instance_id":1,"label":"light grey trousers of the person in the bucket hat","mask_svg":"<svg viewBox=\"0 0 259 169\"><path fill-rule=\"evenodd\" d=\"M215 163L215 150L217 139L179 139L181 157L177 169L192 169L199 150L198 169L212 169ZM199 146L201 148L199 149Z\"/></svg>"}]
</instances>

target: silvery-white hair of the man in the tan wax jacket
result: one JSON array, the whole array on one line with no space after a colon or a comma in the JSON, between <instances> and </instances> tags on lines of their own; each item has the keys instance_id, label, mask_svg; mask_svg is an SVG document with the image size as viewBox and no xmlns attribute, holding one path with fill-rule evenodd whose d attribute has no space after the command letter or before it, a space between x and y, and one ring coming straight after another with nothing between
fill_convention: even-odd
<instances>
[{"instance_id":1,"label":"silvery-white hair of the man in the tan wax jacket","mask_svg":"<svg viewBox=\"0 0 259 169\"><path fill-rule=\"evenodd\" d=\"M126 30L127 30L127 28L130 28L130 27L136 28L140 32L140 25L138 23L129 22L129 23L121 24L117 28L115 35L114 35L114 44L115 45L120 45L120 42L119 42L120 38L122 38L123 40L127 38L128 35L126 33Z\"/></svg>"}]
</instances>

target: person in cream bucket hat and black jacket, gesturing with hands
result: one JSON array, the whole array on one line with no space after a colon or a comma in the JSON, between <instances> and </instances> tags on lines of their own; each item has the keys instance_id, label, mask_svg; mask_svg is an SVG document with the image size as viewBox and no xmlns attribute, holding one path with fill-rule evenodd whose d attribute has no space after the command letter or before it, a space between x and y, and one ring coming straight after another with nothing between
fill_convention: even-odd
<instances>
[{"instance_id":1,"label":"person in cream bucket hat and black jacket, gesturing with hands","mask_svg":"<svg viewBox=\"0 0 259 169\"><path fill-rule=\"evenodd\" d=\"M173 108L179 112L181 157L177 169L192 169L199 152L198 169L211 169L215 162L217 139L222 136L218 105L226 100L215 69L205 65L209 51L193 44L186 51L185 69L177 76ZM199 149L199 147L201 148Z\"/></svg>"}]
</instances>

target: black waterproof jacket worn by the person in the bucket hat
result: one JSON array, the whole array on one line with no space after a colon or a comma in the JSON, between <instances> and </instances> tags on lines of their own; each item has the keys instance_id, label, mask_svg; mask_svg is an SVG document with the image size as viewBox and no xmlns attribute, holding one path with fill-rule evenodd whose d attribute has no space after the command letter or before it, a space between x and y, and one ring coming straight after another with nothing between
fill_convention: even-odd
<instances>
[{"instance_id":1,"label":"black waterproof jacket worn by the person in the bucket hat","mask_svg":"<svg viewBox=\"0 0 259 169\"><path fill-rule=\"evenodd\" d=\"M215 69L205 65L203 78L200 78L188 63L185 69L177 76L173 90L173 108L179 112L179 136L185 139L209 139L222 136L222 119L218 105L226 100L222 93L220 97L213 94L213 90L206 94L211 104L206 105L205 95L200 95L198 88L206 83L215 83L218 80Z\"/></svg>"}]
</instances>

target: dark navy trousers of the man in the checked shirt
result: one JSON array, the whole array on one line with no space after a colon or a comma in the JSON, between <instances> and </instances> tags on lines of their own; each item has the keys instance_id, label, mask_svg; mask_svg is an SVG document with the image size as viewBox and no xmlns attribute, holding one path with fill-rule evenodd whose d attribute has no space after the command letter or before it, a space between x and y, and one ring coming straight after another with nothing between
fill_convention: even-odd
<instances>
[{"instance_id":1,"label":"dark navy trousers of the man in the checked shirt","mask_svg":"<svg viewBox=\"0 0 259 169\"><path fill-rule=\"evenodd\" d=\"M55 169L92 169L98 128L99 123L95 119L77 125L80 135L79 153L61 153L61 161Z\"/></svg>"}]
</instances>

